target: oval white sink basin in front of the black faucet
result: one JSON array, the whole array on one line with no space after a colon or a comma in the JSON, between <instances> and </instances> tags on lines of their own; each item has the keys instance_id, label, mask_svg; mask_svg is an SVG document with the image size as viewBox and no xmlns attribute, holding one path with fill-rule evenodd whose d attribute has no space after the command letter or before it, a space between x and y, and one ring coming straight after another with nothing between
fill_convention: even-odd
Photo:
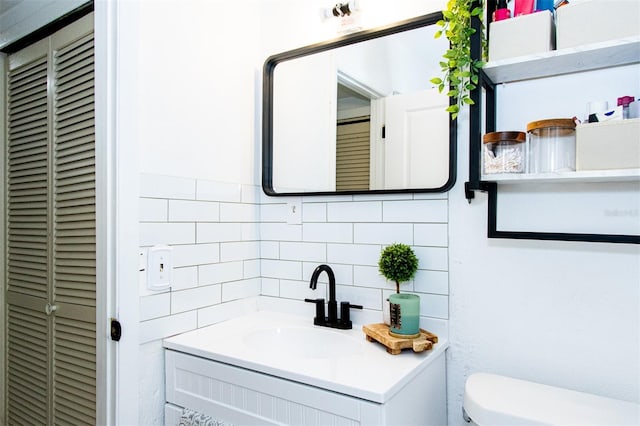
<instances>
[{"instance_id":1,"label":"oval white sink basin in front of the black faucet","mask_svg":"<svg viewBox=\"0 0 640 426\"><path fill-rule=\"evenodd\" d=\"M358 355L361 343L331 329L285 327L256 330L243 343L267 356L342 358Z\"/></svg>"}]
</instances>

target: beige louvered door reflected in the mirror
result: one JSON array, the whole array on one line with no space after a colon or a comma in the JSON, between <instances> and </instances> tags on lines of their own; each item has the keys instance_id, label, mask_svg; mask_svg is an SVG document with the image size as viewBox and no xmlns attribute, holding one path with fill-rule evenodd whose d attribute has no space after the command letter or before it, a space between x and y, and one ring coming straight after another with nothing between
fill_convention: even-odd
<instances>
[{"instance_id":1,"label":"beige louvered door reflected in the mirror","mask_svg":"<svg viewBox=\"0 0 640 426\"><path fill-rule=\"evenodd\" d=\"M369 189L369 117L338 122L336 190Z\"/></svg>"}]
</instances>

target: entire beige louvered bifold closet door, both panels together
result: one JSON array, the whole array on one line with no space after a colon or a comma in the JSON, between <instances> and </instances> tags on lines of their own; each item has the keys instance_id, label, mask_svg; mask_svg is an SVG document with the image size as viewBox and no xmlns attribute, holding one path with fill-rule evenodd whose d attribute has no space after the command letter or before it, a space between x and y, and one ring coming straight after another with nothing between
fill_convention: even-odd
<instances>
[{"instance_id":1,"label":"entire beige louvered bifold closet door, both panels together","mask_svg":"<svg viewBox=\"0 0 640 426\"><path fill-rule=\"evenodd\" d=\"M35 46L9 59L10 424L96 421L92 19L45 40L44 59L25 60ZM38 95L22 95L38 66L22 85ZM20 133L20 113L39 132Z\"/></svg>"}]
</instances>

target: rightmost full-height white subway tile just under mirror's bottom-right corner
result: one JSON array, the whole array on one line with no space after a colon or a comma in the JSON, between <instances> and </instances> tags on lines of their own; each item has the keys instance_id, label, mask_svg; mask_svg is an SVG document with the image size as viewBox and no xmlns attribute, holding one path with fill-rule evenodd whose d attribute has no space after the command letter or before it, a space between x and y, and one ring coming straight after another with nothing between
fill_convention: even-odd
<instances>
[{"instance_id":1,"label":"rightmost full-height white subway tile just under mirror's bottom-right corner","mask_svg":"<svg viewBox=\"0 0 640 426\"><path fill-rule=\"evenodd\" d=\"M384 222L446 223L447 200L384 201Z\"/></svg>"}]
</instances>

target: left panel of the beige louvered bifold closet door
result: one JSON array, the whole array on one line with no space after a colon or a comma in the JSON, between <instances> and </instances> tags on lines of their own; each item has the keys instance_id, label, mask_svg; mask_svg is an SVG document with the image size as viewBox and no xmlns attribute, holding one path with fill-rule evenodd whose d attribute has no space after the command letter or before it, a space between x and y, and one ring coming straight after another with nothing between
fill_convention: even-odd
<instances>
[{"instance_id":1,"label":"left panel of the beige louvered bifold closet door","mask_svg":"<svg viewBox=\"0 0 640 426\"><path fill-rule=\"evenodd\" d=\"M51 296L47 44L8 75L7 402L9 424L46 424Z\"/></svg>"}]
</instances>

